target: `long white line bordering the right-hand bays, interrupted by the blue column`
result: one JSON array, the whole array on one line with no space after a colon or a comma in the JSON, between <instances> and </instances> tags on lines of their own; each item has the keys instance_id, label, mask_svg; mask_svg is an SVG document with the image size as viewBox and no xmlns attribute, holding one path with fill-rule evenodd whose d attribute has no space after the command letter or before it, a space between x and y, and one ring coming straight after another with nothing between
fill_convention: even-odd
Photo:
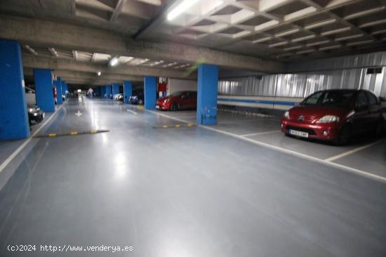
<instances>
[{"instance_id":1,"label":"long white line bordering the right-hand bays, interrupted by the blue column","mask_svg":"<svg viewBox=\"0 0 386 257\"><path fill-rule=\"evenodd\" d=\"M176 121L180 121L180 122L184 122L184 123L190 123L189 121L185 121L183 119L176 119L174 117L170 117L170 116L168 116L166 114L161 114L159 112L154 112L154 111L150 111L150 110L149 110L149 112L152 112L154 114L157 114L157 115L160 115L160 116L164 116L164 117L167 117L167 118L170 118L170 119L174 119ZM356 174L358 174L360 176L364 176L366 178L371 178L371 179L374 179L374 180L378 180L378 181L380 181L382 183L386 183L386 178L385 177L375 175L375 174L373 174L371 172L368 172L368 171L362 171L360 169L355 169L355 168L352 168L352 167L349 167L349 166L345 166L345 165L342 165L342 164L336 164L335 162L327 162L324 159L319 159L319 158L313 157L311 155L302 154L300 152L295 152L293 150L288 150L286 148L278 147L276 145L269 145L267 143L263 143L263 142L260 142L258 140L253 140L253 139L247 138L245 136L239 136L239 135L236 135L234 133L230 133L230 132L227 132L227 131L222 131L220 129L215 129L215 128L211 127L211 126L203 126L203 125L197 125L197 126L201 127L202 129L207 129L207 130L210 130L210 131L215 131L217 133L222 133L222 134L227 135L227 136L232 136L233 138L239 138L241 140L247 141L249 143L253 143L255 145L260 145L260 146L263 146L263 147L267 147L269 149L277 150L279 152L284 152L286 154L291 154L293 156L300 157L302 159L308 159L310 161L319 162L320 164L326 164L327 166L332 166L335 169L340 169L342 171L348 171L348 172L351 172L351 173L356 173Z\"/></svg>"}]
</instances>

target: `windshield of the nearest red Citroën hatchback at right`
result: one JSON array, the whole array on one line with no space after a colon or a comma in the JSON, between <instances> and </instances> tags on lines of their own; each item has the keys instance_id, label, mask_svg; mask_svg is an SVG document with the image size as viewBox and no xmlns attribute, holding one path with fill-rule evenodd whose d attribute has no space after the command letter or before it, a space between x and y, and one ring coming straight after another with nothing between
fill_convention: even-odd
<instances>
[{"instance_id":1,"label":"windshield of the nearest red Citro\u00ebn hatchback at right","mask_svg":"<svg viewBox=\"0 0 386 257\"><path fill-rule=\"evenodd\" d=\"M353 91L322 91L302 101L302 105L319 105L330 107L349 107L354 96Z\"/></svg>"}]
</instances>

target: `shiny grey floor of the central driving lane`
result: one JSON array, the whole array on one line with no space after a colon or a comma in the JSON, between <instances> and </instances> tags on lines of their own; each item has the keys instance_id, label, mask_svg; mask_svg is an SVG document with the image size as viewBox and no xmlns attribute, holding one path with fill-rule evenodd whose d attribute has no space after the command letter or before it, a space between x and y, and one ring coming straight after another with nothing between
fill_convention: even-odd
<instances>
[{"instance_id":1,"label":"shiny grey floor of the central driving lane","mask_svg":"<svg viewBox=\"0 0 386 257\"><path fill-rule=\"evenodd\" d=\"M34 139L0 191L0 256L386 255L385 183L109 100L56 115L46 132L110 132Z\"/></svg>"}]
</instances>

